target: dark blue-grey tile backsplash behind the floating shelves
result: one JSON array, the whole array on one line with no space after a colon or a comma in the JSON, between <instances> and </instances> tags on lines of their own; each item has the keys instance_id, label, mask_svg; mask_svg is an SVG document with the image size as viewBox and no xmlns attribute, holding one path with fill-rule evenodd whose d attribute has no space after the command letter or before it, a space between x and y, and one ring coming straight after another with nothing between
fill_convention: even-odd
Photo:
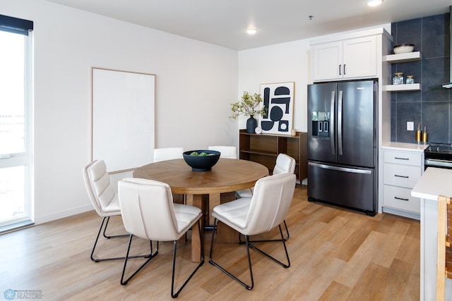
<instances>
[{"instance_id":1,"label":"dark blue-grey tile backsplash behind the floating shelves","mask_svg":"<svg viewBox=\"0 0 452 301\"><path fill-rule=\"evenodd\" d=\"M391 141L415 142L415 131L407 121L427 126L429 142L452 143L451 90L441 87L449 82L449 13L406 20L391 25L393 44L415 44L422 60L396 63L392 72L414 75L422 91L391 92ZM392 75L391 75L392 76Z\"/></svg>"}]
</instances>

